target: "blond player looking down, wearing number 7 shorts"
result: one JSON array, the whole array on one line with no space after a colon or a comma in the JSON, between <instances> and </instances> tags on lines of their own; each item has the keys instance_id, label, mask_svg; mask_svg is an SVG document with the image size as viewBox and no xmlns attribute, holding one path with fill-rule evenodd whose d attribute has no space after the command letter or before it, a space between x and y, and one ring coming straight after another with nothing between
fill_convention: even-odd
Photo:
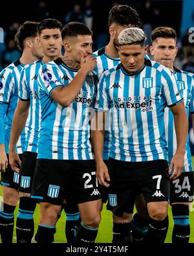
<instances>
[{"instance_id":1,"label":"blond player looking down, wearing number 7 shorts","mask_svg":"<svg viewBox=\"0 0 194 256\"><path fill-rule=\"evenodd\" d=\"M112 146L109 171L103 163L103 130L93 131L98 181L109 187L108 208L122 209L133 201L136 190L144 194L150 217L147 240L164 242L167 233L167 143L164 108L169 106L176 122L177 152L171 160L171 179L178 178L184 165L188 119L178 93L175 76L168 69L155 69L144 61L145 34L138 28L118 36L121 64L105 71L98 84L98 111L111 110ZM98 124L98 123L97 123ZM105 178L109 183L105 181ZM130 223L123 223L122 242L129 242Z\"/></svg>"}]
</instances>

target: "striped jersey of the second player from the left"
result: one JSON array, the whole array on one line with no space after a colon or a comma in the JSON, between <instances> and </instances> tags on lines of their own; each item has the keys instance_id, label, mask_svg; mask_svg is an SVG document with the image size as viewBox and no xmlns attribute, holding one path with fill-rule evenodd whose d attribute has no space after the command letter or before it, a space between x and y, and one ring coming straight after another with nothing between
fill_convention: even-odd
<instances>
[{"instance_id":1,"label":"striped jersey of the second player from the left","mask_svg":"<svg viewBox=\"0 0 194 256\"><path fill-rule=\"evenodd\" d=\"M40 104L38 74L41 72L43 60L26 65L21 71L19 84L19 99L30 101L28 134L25 151L38 153L38 138L40 129Z\"/></svg>"}]
</instances>

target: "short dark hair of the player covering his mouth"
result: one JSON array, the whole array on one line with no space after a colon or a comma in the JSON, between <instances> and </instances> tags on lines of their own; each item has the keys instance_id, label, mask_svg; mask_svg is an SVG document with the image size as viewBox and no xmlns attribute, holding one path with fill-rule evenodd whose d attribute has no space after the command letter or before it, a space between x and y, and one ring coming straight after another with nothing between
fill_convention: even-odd
<instances>
[{"instance_id":1,"label":"short dark hair of the player covering his mouth","mask_svg":"<svg viewBox=\"0 0 194 256\"><path fill-rule=\"evenodd\" d=\"M75 21L67 23L61 32L62 39L66 38L67 36L92 36L92 34L92 30L89 29L89 27L81 22Z\"/></svg>"}]
</instances>

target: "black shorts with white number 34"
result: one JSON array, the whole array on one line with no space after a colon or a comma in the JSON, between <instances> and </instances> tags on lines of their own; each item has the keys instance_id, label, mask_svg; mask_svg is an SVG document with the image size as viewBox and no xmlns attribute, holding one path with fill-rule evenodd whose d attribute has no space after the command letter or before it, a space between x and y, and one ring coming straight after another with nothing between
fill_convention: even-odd
<instances>
[{"instance_id":1,"label":"black shorts with white number 34","mask_svg":"<svg viewBox=\"0 0 194 256\"><path fill-rule=\"evenodd\" d=\"M170 183L170 205L193 201L193 172L182 172L176 180L171 180Z\"/></svg>"}]
</instances>

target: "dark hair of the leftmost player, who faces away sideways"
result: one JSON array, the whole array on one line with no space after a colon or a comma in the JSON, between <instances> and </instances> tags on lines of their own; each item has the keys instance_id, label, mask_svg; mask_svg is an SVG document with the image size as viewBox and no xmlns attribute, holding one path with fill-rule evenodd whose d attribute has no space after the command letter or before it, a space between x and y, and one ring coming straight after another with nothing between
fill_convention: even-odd
<instances>
[{"instance_id":1,"label":"dark hair of the leftmost player, who faces away sideways","mask_svg":"<svg viewBox=\"0 0 194 256\"><path fill-rule=\"evenodd\" d=\"M38 25L39 25L39 22L25 21L25 23L23 23L19 27L15 35L15 41L17 44L17 48L20 51L23 51L23 48L24 48L23 41L26 38L35 38L36 36L38 36L38 30L37 30Z\"/></svg>"}]
</instances>

